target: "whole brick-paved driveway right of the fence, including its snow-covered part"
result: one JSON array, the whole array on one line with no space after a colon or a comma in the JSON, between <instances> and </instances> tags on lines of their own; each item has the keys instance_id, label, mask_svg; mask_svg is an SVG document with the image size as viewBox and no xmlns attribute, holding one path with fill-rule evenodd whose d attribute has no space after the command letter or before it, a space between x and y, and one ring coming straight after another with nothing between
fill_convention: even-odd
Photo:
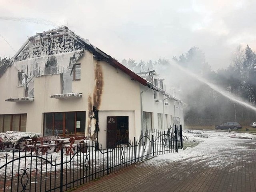
<instances>
[{"instance_id":1,"label":"whole brick-paved driveway right of the fence, including its snow-covered part","mask_svg":"<svg viewBox=\"0 0 256 192\"><path fill-rule=\"evenodd\" d=\"M178 154L158 156L78 187L80 192L256 192L256 140L216 132ZM231 133L232 134L232 133ZM215 137L215 138L214 138Z\"/></svg>"}]
</instances>

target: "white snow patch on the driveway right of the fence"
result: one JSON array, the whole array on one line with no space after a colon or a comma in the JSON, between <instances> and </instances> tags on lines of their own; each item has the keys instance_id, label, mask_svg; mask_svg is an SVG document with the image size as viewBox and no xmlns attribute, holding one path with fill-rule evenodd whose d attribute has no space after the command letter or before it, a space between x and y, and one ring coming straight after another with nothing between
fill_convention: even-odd
<instances>
[{"instance_id":1,"label":"white snow patch on the driveway right of the fence","mask_svg":"<svg viewBox=\"0 0 256 192\"><path fill-rule=\"evenodd\" d=\"M201 132L202 136L206 137L198 137L200 135L194 132ZM238 153L241 150L250 150L243 145L245 142L256 144L256 135L224 131L194 130L193 133L183 132L183 138L184 147L194 146L179 150L178 153L159 155L145 162L145 164L162 166L170 162L180 161L181 163L192 164L205 162L204 166L225 167L232 164L233 161L231 159L233 158L242 158L246 161L246 154Z\"/></svg>"}]
</instances>

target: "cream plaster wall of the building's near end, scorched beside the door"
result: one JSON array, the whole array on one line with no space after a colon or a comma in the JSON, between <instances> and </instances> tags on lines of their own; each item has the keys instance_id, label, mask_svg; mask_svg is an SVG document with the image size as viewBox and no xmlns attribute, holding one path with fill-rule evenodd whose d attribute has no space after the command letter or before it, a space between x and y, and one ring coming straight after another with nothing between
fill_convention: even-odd
<instances>
[{"instance_id":1,"label":"cream plaster wall of the building's near end, scorched beside the door","mask_svg":"<svg viewBox=\"0 0 256 192\"><path fill-rule=\"evenodd\" d=\"M129 130L129 132L131 136L138 135L141 124L140 83L131 80L130 76L110 64L95 60L92 53L86 50L76 63L81 64L81 80L72 81L72 92L82 93L82 98L50 98L50 95L61 93L60 74L54 74L34 77L33 102L5 101L7 98L22 97L22 94L20 94L22 88L18 87L18 70L14 65L8 68L0 78L0 90L2 90L0 92L0 114L26 113L26 130L43 133L44 113L86 111L86 131L92 126L91 130L93 132L94 124L88 116L92 106L97 104L100 112L114 111L115 116L122 116L127 111L129 114L129 127L132 128L132 131ZM97 80L95 78L97 68L102 68L103 76L100 102L95 101L95 94L97 93ZM106 120L106 117L104 119ZM100 130L104 129L106 129L106 126L101 123Z\"/></svg>"}]
</instances>

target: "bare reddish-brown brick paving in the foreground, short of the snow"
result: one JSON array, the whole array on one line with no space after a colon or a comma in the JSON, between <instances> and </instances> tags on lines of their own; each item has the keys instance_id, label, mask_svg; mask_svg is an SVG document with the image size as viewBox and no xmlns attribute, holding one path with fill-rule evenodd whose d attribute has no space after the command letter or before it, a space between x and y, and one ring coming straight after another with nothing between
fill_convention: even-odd
<instances>
[{"instance_id":1,"label":"bare reddish-brown brick paving in the foreground, short of the snow","mask_svg":"<svg viewBox=\"0 0 256 192\"><path fill-rule=\"evenodd\" d=\"M255 141L244 140L237 150L225 150L220 155L225 156L227 164L214 165L207 159L167 163L160 160L156 166L150 160L144 161L72 191L256 192Z\"/></svg>"}]
</instances>

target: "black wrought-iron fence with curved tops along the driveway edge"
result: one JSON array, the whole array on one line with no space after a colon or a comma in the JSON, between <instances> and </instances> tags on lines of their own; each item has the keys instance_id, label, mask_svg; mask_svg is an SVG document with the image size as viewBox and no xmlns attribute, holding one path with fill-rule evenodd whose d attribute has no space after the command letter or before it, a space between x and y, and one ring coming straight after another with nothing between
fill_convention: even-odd
<instances>
[{"instance_id":1,"label":"black wrought-iron fence with curved tops along the driveway edge","mask_svg":"<svg viewBox=\"0 0 256 192\"><path fill-rule=\"evenodd\" d=\"M116 143L114 148L96 150L90 140L77 146L74 155L6 153L0 158L0 191L67 191L106 174L156 155L182 148L182 127L142 132L138 140Z\"/></svg>"}]
</instances>

